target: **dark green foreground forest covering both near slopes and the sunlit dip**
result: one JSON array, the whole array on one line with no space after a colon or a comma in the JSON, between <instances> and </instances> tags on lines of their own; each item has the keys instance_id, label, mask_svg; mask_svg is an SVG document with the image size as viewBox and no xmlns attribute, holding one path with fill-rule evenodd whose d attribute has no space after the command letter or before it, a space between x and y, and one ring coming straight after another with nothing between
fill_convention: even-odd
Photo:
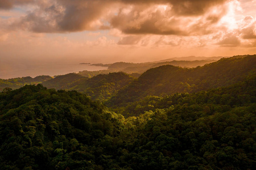
<instances>
[{"instance_id":1,"label":"dark green foreground forest covering both near slopes and the sunlit dip","mask_svg":"<svg viewBox=\"0 0 256 170\"><path fill-rule=\"evenodd\" d=\"M0 94L1 169L254 169L256 76L140 101L123 118L76 91ZM155 99L154 99L155 98Z\"/></svg>"}]
</instances>

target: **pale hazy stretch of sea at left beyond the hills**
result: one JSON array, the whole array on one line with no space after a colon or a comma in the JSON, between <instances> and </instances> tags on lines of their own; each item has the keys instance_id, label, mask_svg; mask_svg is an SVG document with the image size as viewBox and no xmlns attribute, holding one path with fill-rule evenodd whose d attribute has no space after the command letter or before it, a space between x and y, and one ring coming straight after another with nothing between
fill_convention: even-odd
<instances>
[{"instance_id":1,"label":"pale hazy stretch of sea at left beyond the hills","mask_svg":"<svg viewBox=\"0 0 256 170\"><path fill-rule=\"evenodd\" d=\"M64 75L68 73L78 73L79 71L106 70L108 67L91 66L77 64L54 64L54 65L0 65L0 79L18 78L38 75Z\"/></svg>"}]
</instances>

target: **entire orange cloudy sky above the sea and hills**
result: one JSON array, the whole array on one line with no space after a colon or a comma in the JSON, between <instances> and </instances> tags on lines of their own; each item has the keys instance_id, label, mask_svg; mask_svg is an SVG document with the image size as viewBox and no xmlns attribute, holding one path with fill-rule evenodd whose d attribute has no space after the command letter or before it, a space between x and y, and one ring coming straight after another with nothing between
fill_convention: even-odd
<instances>
[{"instance_id":1,"label":"entire orange cloudy sky above the sea and hills","mask_svg":"<svg viewBox=\"0 0 256 170\"><path fill-rule=\"evenodd\" d=\"M255 9L256 0L1 0L0 62L256 54Z\"/></svg>"}]
</instances>

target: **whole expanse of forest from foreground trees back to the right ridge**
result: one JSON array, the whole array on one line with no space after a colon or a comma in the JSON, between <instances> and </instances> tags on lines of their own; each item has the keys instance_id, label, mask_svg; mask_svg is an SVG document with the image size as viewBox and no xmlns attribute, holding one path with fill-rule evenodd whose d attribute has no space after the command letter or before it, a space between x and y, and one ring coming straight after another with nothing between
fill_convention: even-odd
<instances>
[{"instance_id":1,"label":"whole expanse of forest from foreground trees back to the right ridge","mask_svg":"<svg viewBox=\"0 0 256 170\"><path fill-rule=\"evenodd\" d=\"M4 88L0 169L255 169L255 69L234 56Z\"/></svg>"}]
</instances>

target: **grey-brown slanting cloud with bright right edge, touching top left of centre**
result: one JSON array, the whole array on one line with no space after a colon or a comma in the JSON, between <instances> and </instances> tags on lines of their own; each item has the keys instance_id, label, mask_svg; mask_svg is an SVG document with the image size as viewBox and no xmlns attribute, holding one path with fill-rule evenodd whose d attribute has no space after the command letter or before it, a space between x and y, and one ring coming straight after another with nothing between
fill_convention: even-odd
<instances>
[{"instance_id":1,"label":"grey-brown slanting cloud with bright right edge, touching top left of centre","mask_svg":"<svg viewBox=\"0 0 256 170\"><path fill-rule=\"evenodd\" d=\"M110 1L68 1L60 3L65 8L63 18L57 24L59 31L84 31L94 30L104 27L101 21L108 7L112 4Z\"/></svg>"}]
</instances>

